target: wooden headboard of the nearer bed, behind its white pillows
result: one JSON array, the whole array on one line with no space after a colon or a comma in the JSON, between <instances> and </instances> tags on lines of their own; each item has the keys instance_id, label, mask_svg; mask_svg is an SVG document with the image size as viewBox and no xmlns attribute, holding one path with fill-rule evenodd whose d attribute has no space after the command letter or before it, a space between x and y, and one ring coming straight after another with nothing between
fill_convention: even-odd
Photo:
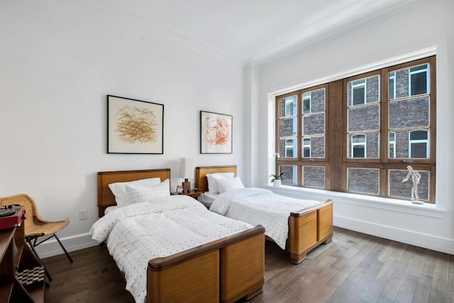
<instances>
[{"instance_id":1,"label":"wooden headboard of the nearer bed, behind its white pillows","mask_svg":"<svg viewBox=\"0 0 454 303\"><path fill-rule=\"evenodd\" d=\"M160 170L122 170L116 172L98 172L98 216L104 216L108 206L115 206L115 196L112 194L109 184L115 182L129 182L140 179L160 177L161 182L169 179L170 168ZM170 182L169 182L170 183Z\"/></svg>"}]
</instances>

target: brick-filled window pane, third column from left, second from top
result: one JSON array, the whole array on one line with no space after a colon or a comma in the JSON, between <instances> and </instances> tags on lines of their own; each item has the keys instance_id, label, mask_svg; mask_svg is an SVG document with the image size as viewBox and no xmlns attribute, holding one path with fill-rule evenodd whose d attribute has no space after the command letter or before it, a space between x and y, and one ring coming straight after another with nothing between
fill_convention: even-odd
<instances>
[{"instance_id":1,"label":"brick-filled window pane, third column from left, second from top","mask_svg":"<svg viewBox=\"0 0 454 303\"><path fill-rule=\"evenodd\" d=\"M348 131L377 131L380 129L380 104L348 109Z\"/></svg>"}]
</instances>

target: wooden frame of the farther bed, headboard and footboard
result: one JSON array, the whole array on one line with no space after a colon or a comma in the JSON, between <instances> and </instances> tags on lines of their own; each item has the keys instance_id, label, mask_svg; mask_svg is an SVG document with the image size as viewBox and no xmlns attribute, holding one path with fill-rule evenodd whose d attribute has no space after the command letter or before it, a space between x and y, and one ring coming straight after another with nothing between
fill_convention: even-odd
<instances>
[{"instance_id":1,"label":"wooden frame of the farther bed, headboard and footboard","mask_svg":"<svg viewBox=\"0 0 454 303\"><path fill-rule=\"evenodd\" d=\"M206 174L215 172L233 172L236 175L236 165L196 167L195 186L199 187L200 192L208 191ZM309 251L332 239L333 200L327 199L320 206L290 214L286 248L292 263L301 263ZM269 237L267 240L272 241Z\"/></svg>"}]
</instances>

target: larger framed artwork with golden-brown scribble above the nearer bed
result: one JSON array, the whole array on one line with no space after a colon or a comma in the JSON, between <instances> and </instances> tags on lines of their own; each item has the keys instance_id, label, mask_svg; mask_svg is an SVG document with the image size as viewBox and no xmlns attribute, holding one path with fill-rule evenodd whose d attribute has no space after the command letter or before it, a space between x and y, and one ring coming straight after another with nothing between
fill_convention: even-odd
<instances>
[{"instance_id":1,"label":"larger framed artwork with golden-brown scribble above the nearer bed","mask_svg":"<svg viewBox=\"0 0 454 303\"><path fill-rule=\"evenodd\" d=\"M107 95L107 153L164 153L164 104Z\"/></svg>"}]
</instances>

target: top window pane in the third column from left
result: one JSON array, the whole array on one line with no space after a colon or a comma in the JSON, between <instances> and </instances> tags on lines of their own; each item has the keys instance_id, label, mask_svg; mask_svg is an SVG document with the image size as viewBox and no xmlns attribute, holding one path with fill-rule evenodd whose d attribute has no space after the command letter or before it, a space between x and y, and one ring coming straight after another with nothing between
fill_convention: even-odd
<instances>
[{"instance_id":1,"label":"top window pane in the third column from left","mask_svg":"<svg viewBox=\"0 0 454 303\"><path fill-rule=\"evenodd\" d=\"M350 106L380 101L380 76L372 76L348 82Z\"/></svg>"}]
</instances>

